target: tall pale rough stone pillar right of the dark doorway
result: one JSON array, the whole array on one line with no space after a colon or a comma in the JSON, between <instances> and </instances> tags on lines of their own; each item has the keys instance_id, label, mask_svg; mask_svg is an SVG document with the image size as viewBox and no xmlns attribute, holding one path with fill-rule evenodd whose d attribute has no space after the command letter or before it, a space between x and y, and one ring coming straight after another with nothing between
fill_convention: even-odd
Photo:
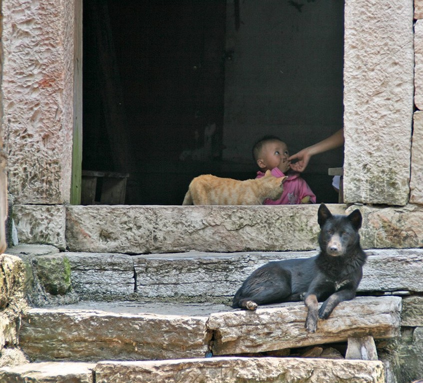
<instances>
[{"instance_id":1,"label":"tall pale rough stone pillar right of the dark doorway","mask_svg":"<svg viewBox=\"0 0 423 383\"><path fill-rule=\"evenodd\" d=\"M412 1L345 2L346 202L408 202L413 12Z\"/></svg>"}]
</instances>

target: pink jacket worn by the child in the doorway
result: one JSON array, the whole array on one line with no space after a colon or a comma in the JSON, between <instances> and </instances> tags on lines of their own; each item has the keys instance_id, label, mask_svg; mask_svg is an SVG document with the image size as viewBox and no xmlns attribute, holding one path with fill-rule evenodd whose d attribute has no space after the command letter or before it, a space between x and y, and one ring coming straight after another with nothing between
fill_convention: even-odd
<instances>
[{"instance_id":1,"label":"pink jacket worn by the child in the doorway","mask_svg":"<svg viewBox=\"0 0 423 383\"><path fill-rule=\"evenodd\" d=\"M278 168L272 169L272 176L274 177L284 177L283 174ZM266 199L264 201L265 205L295 205L301 203L301 200L309 195L310 202L316 203L316 195L311 191L307 183L300 177L298 172L288 172L288 178L284 182L284 192L282 196L273 201L272 199ZM258 171L256 178L264 177L264 173Z\"/></svg>"}]
</instances>

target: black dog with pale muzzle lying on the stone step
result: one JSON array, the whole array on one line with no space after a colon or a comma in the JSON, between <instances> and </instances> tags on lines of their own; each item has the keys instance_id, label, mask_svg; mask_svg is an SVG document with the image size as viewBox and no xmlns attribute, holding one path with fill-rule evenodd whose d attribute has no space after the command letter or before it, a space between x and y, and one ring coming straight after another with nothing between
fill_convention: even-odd
<instances>
[{"instance_id":1,"label":"black dog with pale muzzle lying on the stone step","mask_svg":"<svg viewBox=\"0 0 423 383\"><path fill-rule=\"evenodd\" d=\"M366 254L360 246L360 210L332 215L324 203L319 207L320 253L306 259L269 262L255 270L242 284L232 307L255 310L258 305L304 302L308 308L305 327L314 333L318 316L327 319L339 302L356 296L363 276ZM320 310L318 302L324 301Z\"/></svg>"}]
</instances>

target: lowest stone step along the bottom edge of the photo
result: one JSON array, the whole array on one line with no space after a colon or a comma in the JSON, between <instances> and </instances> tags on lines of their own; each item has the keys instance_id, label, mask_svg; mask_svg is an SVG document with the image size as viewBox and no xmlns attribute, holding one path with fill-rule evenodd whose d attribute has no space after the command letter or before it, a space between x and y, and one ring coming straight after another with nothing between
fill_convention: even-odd
<instances>
[{"instance_id":1,"label":"lowest stone step along the bottom edge of the photo","mask_svg":"<svg viewBox=\"0 0 423 383\"><path fill-rule=\"evenodd\" d=\"M300 358L33 363L0 369L0 383L385 383L380 361Z\"/></svg>"}]
</instances>

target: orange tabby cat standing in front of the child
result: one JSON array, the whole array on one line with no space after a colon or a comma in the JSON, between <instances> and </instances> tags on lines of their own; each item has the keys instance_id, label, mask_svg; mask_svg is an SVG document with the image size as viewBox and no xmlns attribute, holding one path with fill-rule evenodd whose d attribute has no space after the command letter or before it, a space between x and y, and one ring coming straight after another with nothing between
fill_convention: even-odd
<instances>
[{"instance_id":1,"label":"orange tabby cat standing in front of the child","mask_svg":"<svg viewBox=\"0 0 423 383\"><path fill-rule=\"evenodd\" d=\"M261 205L266 198L278 199L286 177L266 172L263 178L238 181L210 174L198 176L189 184L183 205Z\"/></svg>"}]
</instances>

